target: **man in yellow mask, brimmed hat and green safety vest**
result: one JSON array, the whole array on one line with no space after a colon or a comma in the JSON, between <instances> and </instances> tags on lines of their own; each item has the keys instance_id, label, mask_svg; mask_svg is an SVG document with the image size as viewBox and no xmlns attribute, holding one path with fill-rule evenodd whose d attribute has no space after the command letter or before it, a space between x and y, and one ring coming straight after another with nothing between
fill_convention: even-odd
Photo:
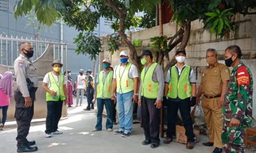
<instances>
[{"instance_id":1,"label":"man in yellow mask, brimmed hat and green safety vest","mask_svg":"<svg viewBox=\"0 0 256 153\"><path fill-rule=\"evenodd\" d=\"M51 134L63 133L58 131L63 101L66 105L66 79L60 72L62 66L61 61L54 60L52 63L52 71L48 72L42 81L42 88L47 92L46 137L52 137Z\"/></svg>"}]
</instances>

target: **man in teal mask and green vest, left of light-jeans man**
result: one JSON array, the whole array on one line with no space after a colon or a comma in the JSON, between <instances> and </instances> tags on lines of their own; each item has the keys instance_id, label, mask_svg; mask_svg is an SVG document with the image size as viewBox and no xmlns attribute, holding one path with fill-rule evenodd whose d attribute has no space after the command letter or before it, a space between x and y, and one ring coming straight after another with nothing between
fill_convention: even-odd
<instances>
[{"instance_id":1,"label":"man in teal mask and green vest, left of light-jeans man","mask_svg":"<svg viewBox=\"0 0 256 153\"><path fill-rule=\"evenodd\" d=\"M102 62L103 71L100 71L96 80L97 92L94 99L97 98L97 124L93 132L102 130L102 112L106 108L106 130L111 132L113 129L113 101L111 100L113 71L109 69L111 61L104 59Z\"/></svg>"}]
</instances>

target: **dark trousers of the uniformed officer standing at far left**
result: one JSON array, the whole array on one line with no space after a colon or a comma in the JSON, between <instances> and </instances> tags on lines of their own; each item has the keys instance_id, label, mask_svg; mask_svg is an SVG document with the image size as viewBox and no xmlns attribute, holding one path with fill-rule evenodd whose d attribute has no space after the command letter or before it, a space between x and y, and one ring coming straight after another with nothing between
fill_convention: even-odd
<instances>
[{"instance_id":1,"label":"dark trousers of the uniformed officer standing at far left","mask_svg":"<svg viewBox=\"0 0 256 153\"><path fill-rule=\"evenodd\" d=\"M32 106L26 107L25 99L22 97L22 93L19 90L15 90L15 118L17 122L17 146L27 143L27 135L29 134L30 122L34 115L34 100L35 91L30 92L30 98L32 100Z\"/></svg>"}]
</instances>

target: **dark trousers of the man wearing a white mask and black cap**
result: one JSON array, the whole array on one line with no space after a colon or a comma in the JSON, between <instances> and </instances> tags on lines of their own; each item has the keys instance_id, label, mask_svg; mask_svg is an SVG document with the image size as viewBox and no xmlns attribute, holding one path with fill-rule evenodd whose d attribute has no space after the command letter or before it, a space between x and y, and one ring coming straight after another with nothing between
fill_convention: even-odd
<instances>
[{"instance_id":1,"label":"dark trousers of the man wearing a white mask and black cap","mask_svg":"<svg viewBox=\"0 0 256 153\"><path fill-rule=\"evenodd\" d=\"M168 114L168 123L167 123L167 137L171 137L176 135L176 119L177 112L180 110L180 114L182 115L182 120L184 123L184 128L186 129L186 136L188 142L194 142L194 132L193 132L193 123L190 116L190 99L184 99L182 101L176 102L168 99L167 102L167 114Z\"/></svg>"}]
</instances>

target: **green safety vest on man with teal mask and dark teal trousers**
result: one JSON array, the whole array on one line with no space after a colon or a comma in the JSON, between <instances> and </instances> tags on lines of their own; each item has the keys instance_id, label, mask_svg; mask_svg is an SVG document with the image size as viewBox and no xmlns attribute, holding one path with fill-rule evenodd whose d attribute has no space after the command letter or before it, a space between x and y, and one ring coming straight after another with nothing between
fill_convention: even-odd
<instances>
[{"instance_id":1,"label":"green safety vest on man with teal mask and dark teal trousers","mask_svg":"<svg viewBox=\"0 0 256 153\"><path fill-rule=\"evenodd\" d=\"M109 71L106 74L105 81L103 81L103 71L99 72L98 75L98 85L97 85L97 98L111 98L112 92L112 80L113 80L113 71Z\"/></svg>"}]
</instances>

